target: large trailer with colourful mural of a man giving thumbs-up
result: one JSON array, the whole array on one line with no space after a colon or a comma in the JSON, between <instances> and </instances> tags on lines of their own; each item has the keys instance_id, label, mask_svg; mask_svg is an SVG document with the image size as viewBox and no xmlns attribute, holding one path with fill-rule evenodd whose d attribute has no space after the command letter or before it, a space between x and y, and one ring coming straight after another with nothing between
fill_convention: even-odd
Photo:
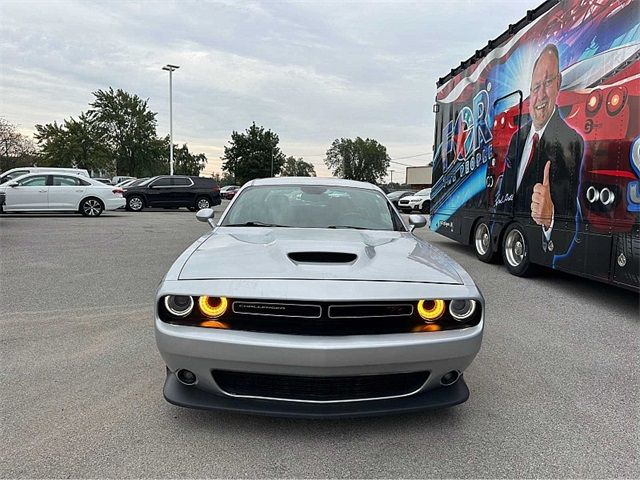
<instances>
[{"instance_id":1,"label":"large trailer with colourful mural of a man giving thumbs-up","mask_svg":"<svg viewBox=\"0 0 640 480\"><path fill-rule=\"evenodd\" d=\"M640 2L549 0L437 82L431 229L633 290Z\"/></svg>"}]
</instances>

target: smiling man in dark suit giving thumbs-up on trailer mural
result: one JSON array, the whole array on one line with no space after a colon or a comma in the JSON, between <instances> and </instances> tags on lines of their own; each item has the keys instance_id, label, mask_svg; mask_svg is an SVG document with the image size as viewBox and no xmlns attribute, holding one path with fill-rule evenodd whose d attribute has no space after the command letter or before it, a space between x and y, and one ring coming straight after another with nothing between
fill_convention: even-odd
<instances>
[{"instance_id":1,"label":"smiling man in dark suit giving thumbs-up on trailer mural","mask_svg":"<svg viewBox=\"0 0 640 480\"><path fill-rule=\"evenodd\" d=\"M515 132L509 143L501 193L515 193L514 211L530 214L540 226L541 248L549 265L570 253L579 213L578 189L584 140L564 119L556 105L562 75L558 49L549 44L534 63L529 110L531 123ZM559 220L570 229L560 228Z\"/></svg>"}]
</instances>

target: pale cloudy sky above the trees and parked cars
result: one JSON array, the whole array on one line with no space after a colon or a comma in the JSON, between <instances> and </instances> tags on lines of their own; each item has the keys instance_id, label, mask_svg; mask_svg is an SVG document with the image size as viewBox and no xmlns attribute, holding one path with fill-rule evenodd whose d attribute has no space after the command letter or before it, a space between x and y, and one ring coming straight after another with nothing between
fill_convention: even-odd
<instances>
[{"instance_id":1,"label":"pale cloudy sky above the trees and parked cars","mask_svg":"<svg viewBox=\"0 0 640 480\"><path fill-rule=\"evenodd\" d=\"M540 3L2 0L0 117L32 135L113 87L148 99L163 136L169 63L174 143L205 175L255 122L319 176L335 139L375 139L403 181L431 161L437 79Z\"/></svg>"}]
</instances>

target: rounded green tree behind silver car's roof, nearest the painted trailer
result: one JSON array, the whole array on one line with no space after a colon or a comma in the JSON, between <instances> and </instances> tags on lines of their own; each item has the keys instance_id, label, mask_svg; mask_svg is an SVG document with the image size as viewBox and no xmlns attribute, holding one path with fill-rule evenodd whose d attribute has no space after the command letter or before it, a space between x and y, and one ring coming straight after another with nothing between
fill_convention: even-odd
<instances>
[{"instance_id":1,"label":"rounded green tree behind silver car's roof, nearest the painted trailer","mask_svg":"<svg viewBox=\"0 0 640 480\"><path fill-rule=\"evenodd\" d=\"M378 183L387 174L390 161L384 145L357 137L335 139L324 162L336 177Z\"/></svg>"}]
</instances>

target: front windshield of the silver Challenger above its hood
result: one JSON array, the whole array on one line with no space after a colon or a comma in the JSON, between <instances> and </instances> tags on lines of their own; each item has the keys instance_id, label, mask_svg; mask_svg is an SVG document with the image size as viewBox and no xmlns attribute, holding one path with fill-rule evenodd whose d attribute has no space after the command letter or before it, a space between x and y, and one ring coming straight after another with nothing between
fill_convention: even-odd
<instances>
[{"instance_id":1,"label":"front windshield of the silver Challenger above its hood","mask_svg":"<svg viewBox=\"0 0 640 480\"><path fill-rule=\"evenodd\" d=\"M222 226L395 230L389 203L374 190L322 185L249 187Z\"/></svg>"}]
</instances>

